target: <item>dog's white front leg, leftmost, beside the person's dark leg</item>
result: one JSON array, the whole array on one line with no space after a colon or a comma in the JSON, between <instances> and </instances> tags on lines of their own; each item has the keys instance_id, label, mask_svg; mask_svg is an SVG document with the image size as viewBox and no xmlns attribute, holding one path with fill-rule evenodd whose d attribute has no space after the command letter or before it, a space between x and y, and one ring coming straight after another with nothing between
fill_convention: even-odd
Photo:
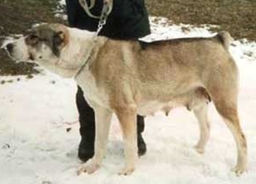
<instances>
[{"instance_id":1,"label":"dog's white front leg, leftmost, beside the person's dark leg","mask_svg":"<svg viewBox=\"0 0 256 184\"><path fill-rule=\"evenodd\" d=\"M111 124L112 111L107 108L93 108L95 112L95 154L89 163L84 163L81 168L78 169L77 174L88 173L92 174L100 167L104 158L104 152L109 135L109 129Z\"/></svg>"}]
</instances>

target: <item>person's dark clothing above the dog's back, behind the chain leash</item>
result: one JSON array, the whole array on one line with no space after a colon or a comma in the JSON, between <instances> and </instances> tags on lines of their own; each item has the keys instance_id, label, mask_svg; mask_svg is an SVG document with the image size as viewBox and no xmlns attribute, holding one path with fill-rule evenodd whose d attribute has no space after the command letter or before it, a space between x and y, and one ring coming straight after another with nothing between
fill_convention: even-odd
<instances>
[{"instance_id":1,"label":"person's dark clothing above the dog's back, behind the chain leash","mask_svg":"<svg viewBox=\"0 0 256 184\"><path fill-rule=\"evenodd\" d=\"M99 16L103 0L95 0L91 13ZM87 0L90 3L90 0ZM88 16L78 0L66 0L68 21L71 27L96 31L98 19ZM136 39L150 34L148 13L144 0L113 0L113 9L99 35L114 39Z\"/></svg>"}]
</instances>

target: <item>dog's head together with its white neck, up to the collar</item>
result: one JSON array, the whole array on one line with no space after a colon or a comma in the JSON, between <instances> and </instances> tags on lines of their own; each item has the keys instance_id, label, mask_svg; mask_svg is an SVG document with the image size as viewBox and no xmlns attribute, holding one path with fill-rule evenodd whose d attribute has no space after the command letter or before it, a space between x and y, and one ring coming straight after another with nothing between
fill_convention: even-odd
<instances>
[{"instance_id":1,"label":"dog's head together with its white neck, up to the collar","mask_svg":"<svg viewBox=\"0 0 256 184\"><path fill-rule=\"evenodd\" d=\"M93 33L62 24L41 24L3 44L15 61L36 62L59 76L73 77L92 47Z\"/></svg>"}]
</instances>

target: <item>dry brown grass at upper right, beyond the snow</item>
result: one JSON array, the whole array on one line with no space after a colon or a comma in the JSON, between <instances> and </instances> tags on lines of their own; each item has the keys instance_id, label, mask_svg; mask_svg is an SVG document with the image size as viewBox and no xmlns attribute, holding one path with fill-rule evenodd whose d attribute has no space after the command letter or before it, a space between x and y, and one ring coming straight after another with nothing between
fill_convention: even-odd
<instances>
[{"instance_id":1,"label":"dry brown grass at upper right, beyond the snow","mask_svg":"<svg viewBox=\"0 0 256 184\"><path fill-rule=\"evenodd\" d=\"M145 0L152 16L174 23L216 24L236 39L256 40L256 0Z\"/></svg>"}]
</instances>

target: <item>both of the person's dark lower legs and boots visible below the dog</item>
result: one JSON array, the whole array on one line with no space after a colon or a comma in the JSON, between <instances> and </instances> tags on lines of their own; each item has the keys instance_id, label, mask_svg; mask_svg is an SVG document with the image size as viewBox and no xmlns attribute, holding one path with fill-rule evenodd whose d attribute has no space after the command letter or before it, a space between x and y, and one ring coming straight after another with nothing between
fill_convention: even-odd
<instances>
[{"instance_id":1,"label":"both of the person's dark lower legs and boots visible below the dog","mask_svg":"<svg viewBox=\"0 0 256 184\"><path fill-rule=\"evenodd\" d=\"M77 89L77 110L79 113L81 141L78 148L78 158L81 161L88 161L94 154L95 141L95 116L93 109L84 99L83 90ZM144 117L137 116L137 134L138 134L138 155L144 155L146 152L145 141L142 137L144 131Z\"/></svg>"}]
</instances>

